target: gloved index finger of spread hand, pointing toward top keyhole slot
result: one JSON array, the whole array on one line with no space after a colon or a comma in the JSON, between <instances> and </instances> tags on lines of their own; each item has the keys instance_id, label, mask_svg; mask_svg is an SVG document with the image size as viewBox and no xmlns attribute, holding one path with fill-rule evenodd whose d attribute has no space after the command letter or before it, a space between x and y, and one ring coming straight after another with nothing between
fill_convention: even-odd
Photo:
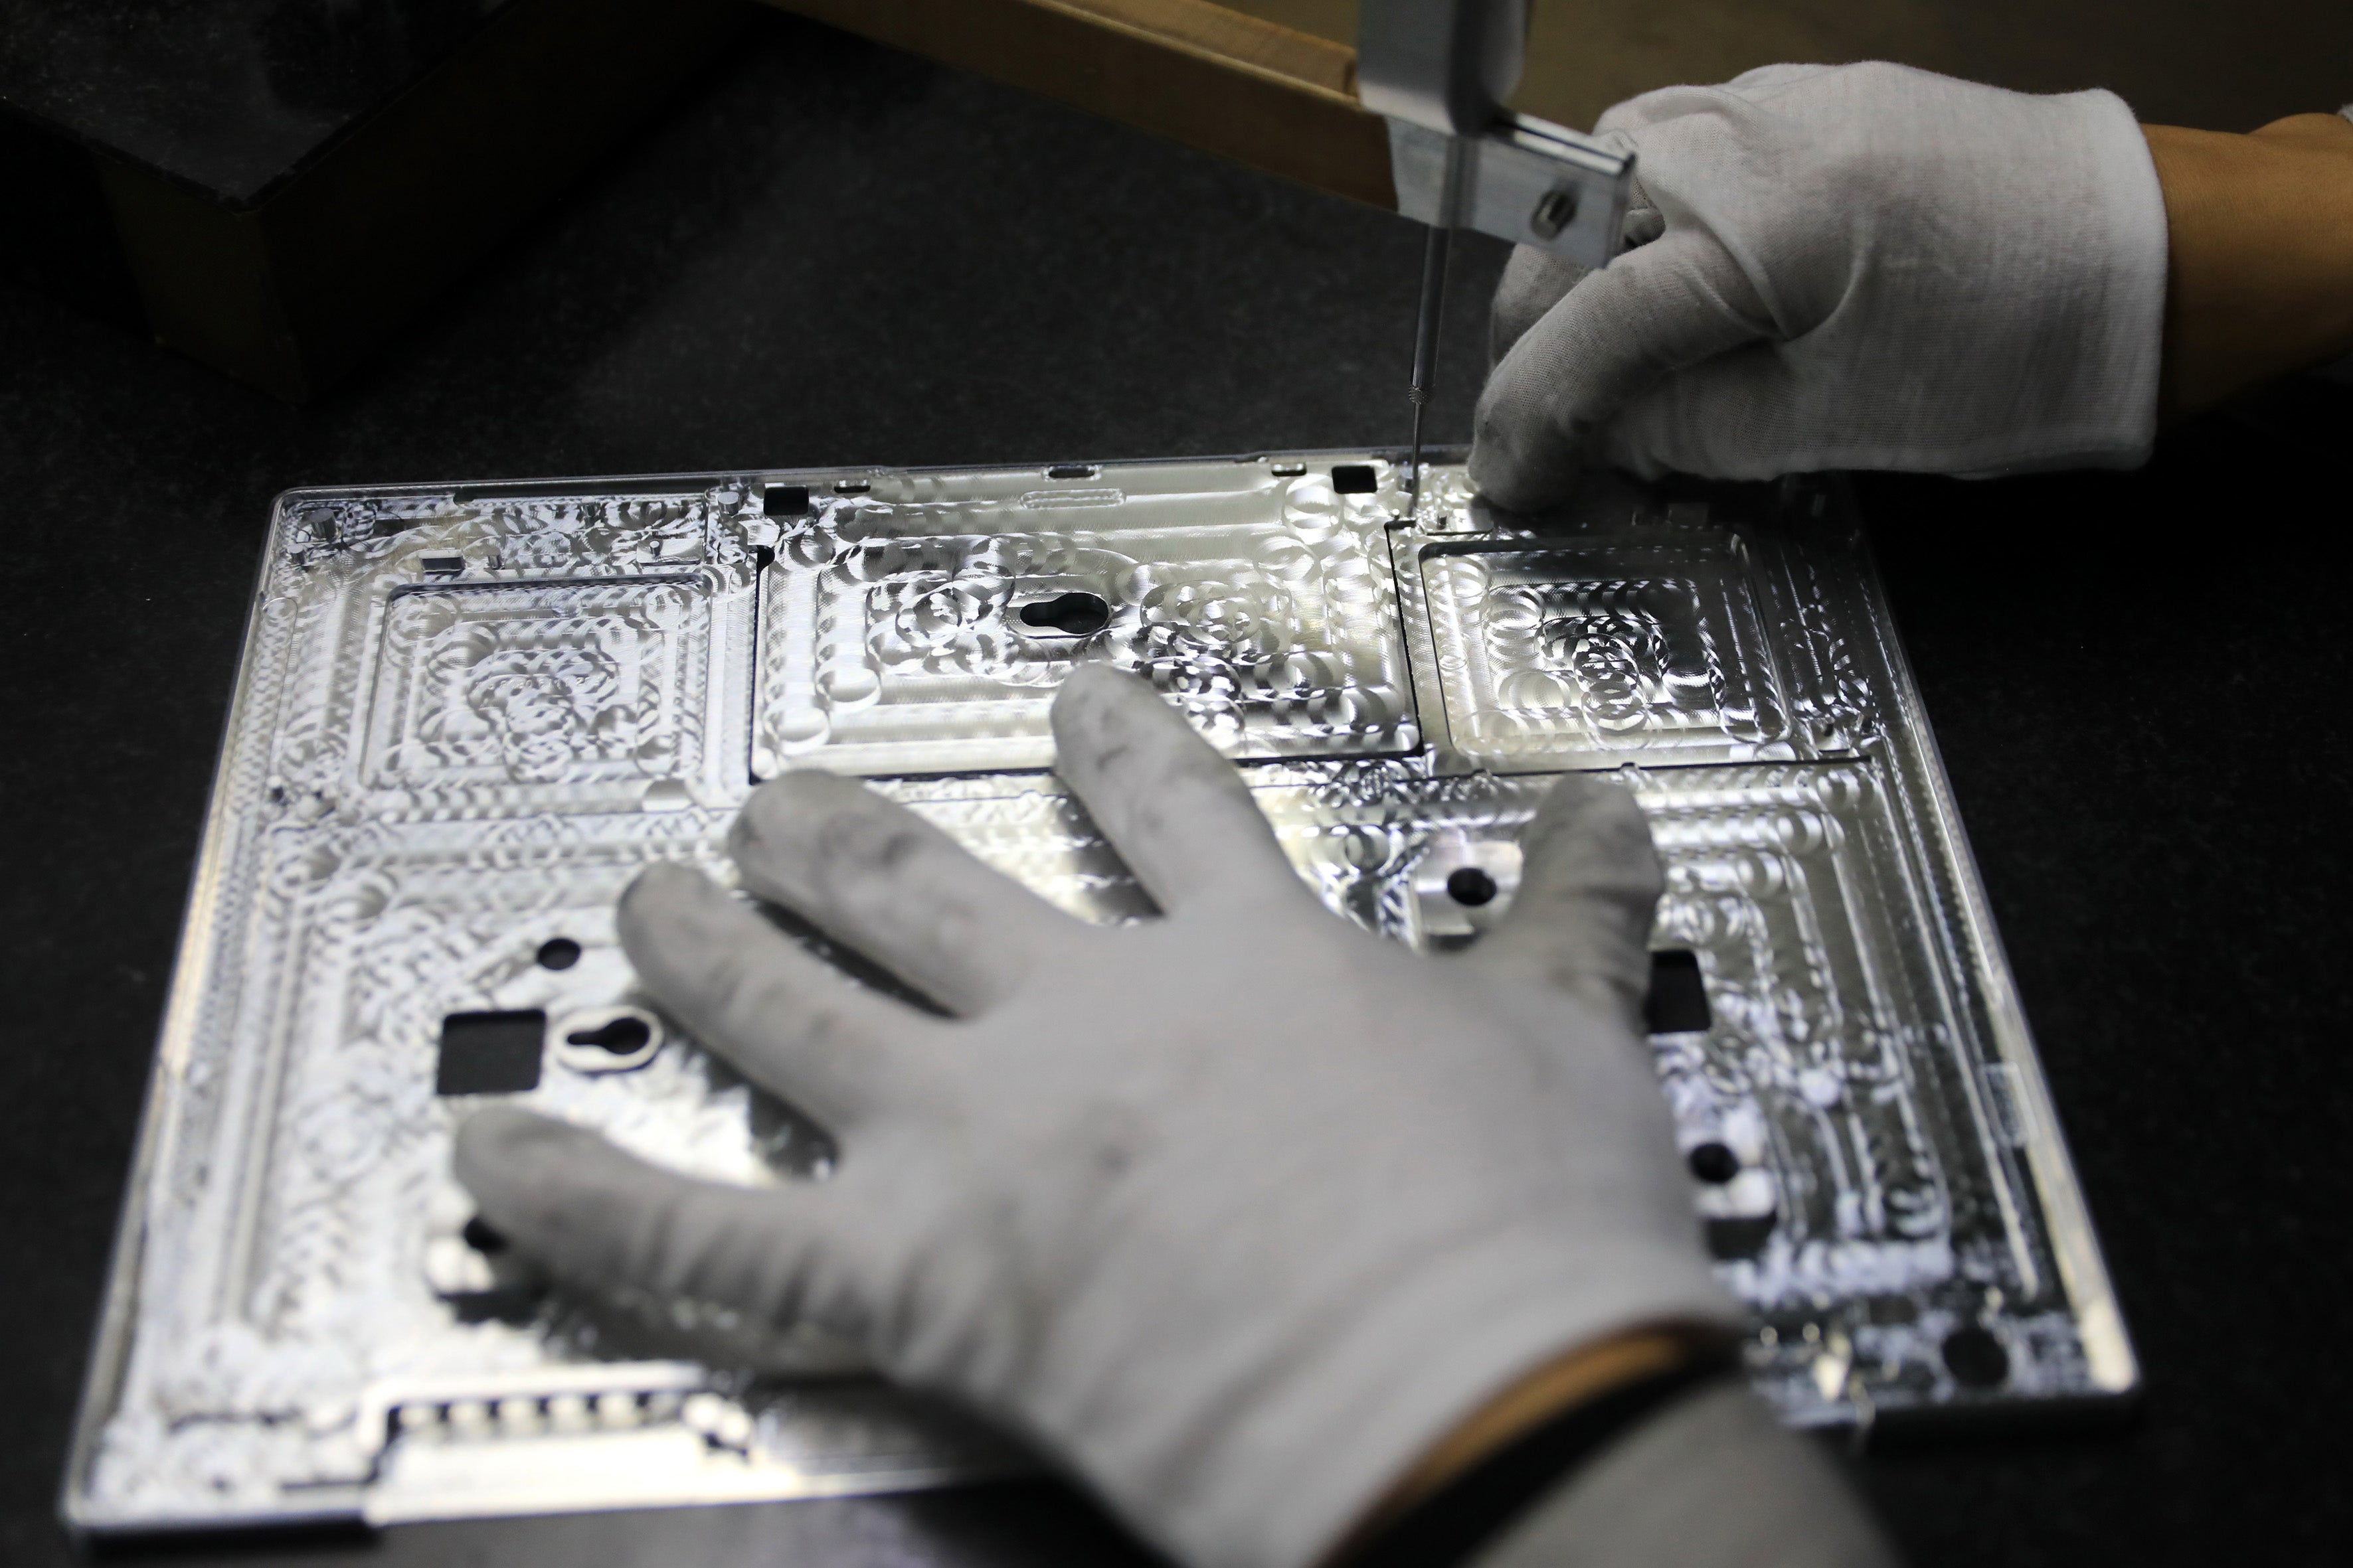
<instances>
[{"instance_id":1,"label":"gloved index finger of spread hand, pointing toward top keyhole slot","mask_svg":"<svg viewBox=\"0 0 2353 1568\"><path fill-rule=\"evenodd\" d=\"M1202 893L1306 896L1240 773L1146 682L1073 670L1054 693L1054 764L1162 910Z\"/></svg>"}]
</instances>

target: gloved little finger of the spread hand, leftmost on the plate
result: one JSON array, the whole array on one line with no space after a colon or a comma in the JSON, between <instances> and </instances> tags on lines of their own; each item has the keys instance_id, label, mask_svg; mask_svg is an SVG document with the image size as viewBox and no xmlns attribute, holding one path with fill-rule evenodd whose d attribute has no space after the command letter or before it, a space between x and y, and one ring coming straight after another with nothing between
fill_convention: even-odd
<instances>
[{"instance_id":1,"label":"gloved little finger of the spread hand, leftmost on the plate","mask_svg":"<svg viewBox=\"0 0 2353 1568\"><path fill-rule=\"evenodd\" d=\"M769 1324L842 1316L842 1302L826 1300L840 1269L824 1267L838 1227L824 1187L694 1180L513 1107L466 1119L456 1178L499 1234L562 1279L715 1302Z\"/></svg>"}]
</instances>

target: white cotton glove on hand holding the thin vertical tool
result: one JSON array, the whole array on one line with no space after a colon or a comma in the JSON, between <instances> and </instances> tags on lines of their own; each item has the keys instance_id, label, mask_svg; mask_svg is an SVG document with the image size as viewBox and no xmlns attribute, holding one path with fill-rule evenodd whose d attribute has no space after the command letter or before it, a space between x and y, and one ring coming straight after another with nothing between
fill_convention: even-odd
<instances>
[{"instance_id":1,"label":"white cotton glove on hand holding the thin vertical tool","mask_svg":"<svg viewBox=\"0 0 2353 1568\"><path fill-rule=\"evenodd\" d=\"M2165 197L2108 92L1767 66L1598 125L1635 155L1600 273L1520 249L1473 482L2129 468L2158 418ZM1508 353L1506 353L1508 350Z\"/></svg>"}]
</instances>

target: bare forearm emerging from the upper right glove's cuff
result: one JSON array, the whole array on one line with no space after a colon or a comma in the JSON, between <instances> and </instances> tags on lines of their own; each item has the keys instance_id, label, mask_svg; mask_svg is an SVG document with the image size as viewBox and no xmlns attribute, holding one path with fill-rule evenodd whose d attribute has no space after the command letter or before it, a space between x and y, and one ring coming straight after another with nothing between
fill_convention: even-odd
<instances>
[{"instance_id":1,"label":"bare forearm emerging from the upper right glove's cuff","mask_svg":"<svg viewBox=\"0 0 2353 1568\"><path fill-rule=\"evenodd\" d=\"M2353 122L2144 132L2172 244L2165 416L2353 353Z\"/></svg>"}]
</instances>

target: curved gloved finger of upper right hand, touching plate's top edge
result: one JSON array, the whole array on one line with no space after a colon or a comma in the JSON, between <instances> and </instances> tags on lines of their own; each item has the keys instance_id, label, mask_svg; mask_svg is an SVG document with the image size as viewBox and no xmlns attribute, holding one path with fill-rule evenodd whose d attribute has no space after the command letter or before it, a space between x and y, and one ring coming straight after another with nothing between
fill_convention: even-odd
<instances>
[{"instance_id":1,"label":"curved gloved finger of upper right hand, touching plate's top edge","mask_svg":"<svg viewBox=\"0 0 2353 1568\"><path fill-rule=\"evenodd\" d=\"M1478 402L1473 484L1515 510L1567 498L1593 433L1631 397L1767 329L1755 289L1704 228L1626 252L1494 367Z\"/></svg>"}]
</instances>

